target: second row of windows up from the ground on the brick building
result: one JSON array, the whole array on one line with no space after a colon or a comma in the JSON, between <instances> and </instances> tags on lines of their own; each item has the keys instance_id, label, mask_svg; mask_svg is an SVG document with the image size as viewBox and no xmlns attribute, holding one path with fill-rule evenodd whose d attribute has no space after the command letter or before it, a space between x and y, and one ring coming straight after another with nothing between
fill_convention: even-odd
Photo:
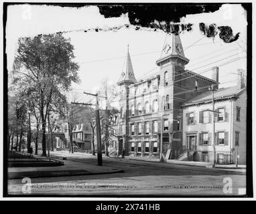
<instances>
[{"instance_id":1,"label":"second row of windows up from the ground on the brick building","mask_svg":"<svg viewBox=\"0 0 256 214\"><path fill-rule=\"evenodd\" d=\"M180 130L180 120L177 120L177 130ZM150 134L150 132L156 133L158 132L158 121L157 120L153 120L152 124L151 124L151 128L152 131L150 130L150 124L149 121L144 122L144 133L145 134ZM169 120L168 119L164 119L163 120L163 130L164 131L168 131L169 130ZM123 124L121 124L121 134L125 133L125 126ZM131 134L131 136L137 134L137 135L141 135L142 134L142 122L137 122L137 130L135 133L135 124L132 123L130 124L130 132L129 134Z\"/></svg>"}]
</instances>

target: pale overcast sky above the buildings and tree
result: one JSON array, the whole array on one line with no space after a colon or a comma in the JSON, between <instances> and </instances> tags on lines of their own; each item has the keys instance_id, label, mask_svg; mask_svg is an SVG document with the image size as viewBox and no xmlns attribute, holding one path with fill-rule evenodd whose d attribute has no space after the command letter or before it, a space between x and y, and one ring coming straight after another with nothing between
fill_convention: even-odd
<instances>
[{"instance_id":1,"label":"pale overcast sky above the buildings and tree","mask_svg":"<svg viewBox=\"0 0 256 214\"><path fill-rule=\"evenodd\" d=\"M172 11L170 11L172 13ZM159 58L164 41L169 43L171 37L166 38L163 31L153 29L135 30L131 25L129 29L122 27L129 24L129 14L121 17L105 19L99 13L97 6L76 8L62 8L56 6L15 5L9 6L7 11L7 68L10 70L13 64L17 39L21 36L34 36L40 33L54 33L69 31L64 37L70 37L74 45L76 62L80 65L78 74L81 79L80 85L74 85L74 92L82 93L83 90L97 90L103 78L109 78L109 82L117 82L121 75L127 44L133 64L133 70L137 79L153 75L159 70L155 61ZM222 5L214 13L202 13L187 15L181 23L193 23L193 30L180 35L184 53L190 63L186 69L198 74L213 67L220 66L219 82L237 80L237 69L246 70L246 11L241 5ZM199 31L198 23L216 23L217 26L229 25L233 33L240 32L239 39L233 43L224 43L216 38L204 37ZM84 29L103 28L106 31L87 31ZM121 27L118 31L107 30L110 27ZM198 41L200 39L200 41ZM197 43L195 43L198 41ZM192 45L195 43L194 45ZM192 45L191 47L189 47ZM188 48L188 49L186 49ZM236 58L243 58L237 62L225 62ZM151 71L151 72L150 72ZM202 75L210 77L210 72ZM221 84L220 87L232 86L237 82ZM84 94L80 101L90 100Z\"/></svg>"}]
</instances>

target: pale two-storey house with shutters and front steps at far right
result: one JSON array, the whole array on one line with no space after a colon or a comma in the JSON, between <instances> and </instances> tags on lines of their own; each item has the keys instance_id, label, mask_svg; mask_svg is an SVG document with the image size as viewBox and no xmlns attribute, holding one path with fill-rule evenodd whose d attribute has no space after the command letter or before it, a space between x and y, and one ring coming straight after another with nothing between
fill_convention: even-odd
<instances>
[{"instance_id":1,"label":"pale two-storey house with shutters and front steps at far right","mask_svg":"<svg viewBox=\"0 0 256 214\"><path fill-rule=\"evenodd\" d=\"M247 90L243 71L238 86L204 92L183 108L183 153L180 159L212 162L213 145L216 163L246 164ZM213 121L215 125L213 142Z\"/></svg>"}]
</instances>

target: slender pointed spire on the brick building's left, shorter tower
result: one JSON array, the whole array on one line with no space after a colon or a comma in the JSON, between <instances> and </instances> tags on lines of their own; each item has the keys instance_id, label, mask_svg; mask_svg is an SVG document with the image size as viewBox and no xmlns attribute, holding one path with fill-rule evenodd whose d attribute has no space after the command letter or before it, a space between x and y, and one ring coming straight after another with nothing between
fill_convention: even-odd
<instances>
[{"instance_id":1,"label":"slender pointed spire on the brick building's left, shorter tower","mask_svg":"<svg viewBox=\"0 0 256 214\"><path fill-rule=\"evenodd\" d=\"M125 72L121 73L121 77L119 78L117 84L121 84L123 82L128 82L128 83L137 82L133 72L133 65L131 64L131 56L129 54L129 44L127 45L127 56L125 60L126 60Z\"/></svg>"}]
</instances>

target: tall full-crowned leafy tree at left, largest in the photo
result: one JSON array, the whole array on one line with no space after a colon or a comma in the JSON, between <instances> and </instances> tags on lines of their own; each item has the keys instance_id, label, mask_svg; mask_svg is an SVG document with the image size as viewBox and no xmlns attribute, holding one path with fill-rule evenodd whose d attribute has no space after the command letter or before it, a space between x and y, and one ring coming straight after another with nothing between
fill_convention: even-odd
<instances>
[{"instance_id":1,"label":"tall full-crowned leafy tree at left, largest in the photo","mask_svg":"<svg viewBox=\"0 0 256 214\"><path fill-rule=\"evenodd\" d=\"M13 65L13 84L29 86L38 102L42 123L42 155L46 156L46 119L53 100L78 83L79 66L74 60L74 47L61 33L23 37L18 41Z\"/></svg>"}]
</instances>

